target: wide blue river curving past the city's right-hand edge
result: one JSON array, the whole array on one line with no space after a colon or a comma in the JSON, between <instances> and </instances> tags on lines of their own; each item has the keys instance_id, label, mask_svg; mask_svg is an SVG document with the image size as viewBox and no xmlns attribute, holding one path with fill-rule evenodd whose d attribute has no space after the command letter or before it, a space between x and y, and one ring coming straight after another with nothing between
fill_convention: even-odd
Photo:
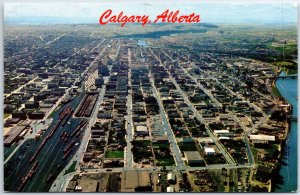
<instances>
[{"instance_id":1,"label":"wide blue river curving past the city's right-hand edge","mask_svg":"<svg viewBox=\"0 0 300 195\"><path fill-rule=\"evenodd\" d=\"M285 74L284 72L281 74ZM297 79L277 79L276 87L281 95L293 107L293 116L298 116L298 80ZM292 192L297 190L298 176L298 122L292 121L290 131L286 139L286 148L282 156L279 177L281 182L275 184L275 192Z\"/></svg>"}]
</instances>

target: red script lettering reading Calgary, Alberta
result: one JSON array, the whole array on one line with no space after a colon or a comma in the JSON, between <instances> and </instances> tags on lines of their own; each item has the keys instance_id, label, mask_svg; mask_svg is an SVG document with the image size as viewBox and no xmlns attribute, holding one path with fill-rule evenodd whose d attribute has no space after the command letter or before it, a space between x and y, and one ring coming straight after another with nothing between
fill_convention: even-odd
<instances>
[{"instance_id":1,"label":"red script lettering reading Calgary, Alberta","mask_svg":"<svg viewBox=\"0 0 300 195\"><path fill-rule=\"evenodd\" d=\"M157 15L153 23L199 23L200 15L191 13L189 15L179 15L179 10L169 11L166 10L162 14ZM108 23L120 23L121 26L125 26L126 23L141 23L142 26L150 24L151 20L147 15L131 15L127 16L121 11L119 14L113 14L111 9L106 10L100 15L99 24L105 25Z\"/></svg>"}]
</instances>

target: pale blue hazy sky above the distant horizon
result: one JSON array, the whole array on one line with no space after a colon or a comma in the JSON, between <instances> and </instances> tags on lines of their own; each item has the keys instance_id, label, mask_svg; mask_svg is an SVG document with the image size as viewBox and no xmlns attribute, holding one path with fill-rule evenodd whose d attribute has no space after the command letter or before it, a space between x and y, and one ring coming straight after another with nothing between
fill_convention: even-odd
<instances>
[{"instance_id":1,"label":"pale blue hazy sky above the distant horizon","mask_svg":"<svg viewBox=\"0 0 300 195\"><path fill-rule=\"evenodd\" d=\"M295 23L296 4L238 4L238 3L5 3L5 23L98 23L107 9L117 14L149 15L155 19L166 9L180 10L182 14L200 14L204 23Z\"/></svg>"}]
</instances>

